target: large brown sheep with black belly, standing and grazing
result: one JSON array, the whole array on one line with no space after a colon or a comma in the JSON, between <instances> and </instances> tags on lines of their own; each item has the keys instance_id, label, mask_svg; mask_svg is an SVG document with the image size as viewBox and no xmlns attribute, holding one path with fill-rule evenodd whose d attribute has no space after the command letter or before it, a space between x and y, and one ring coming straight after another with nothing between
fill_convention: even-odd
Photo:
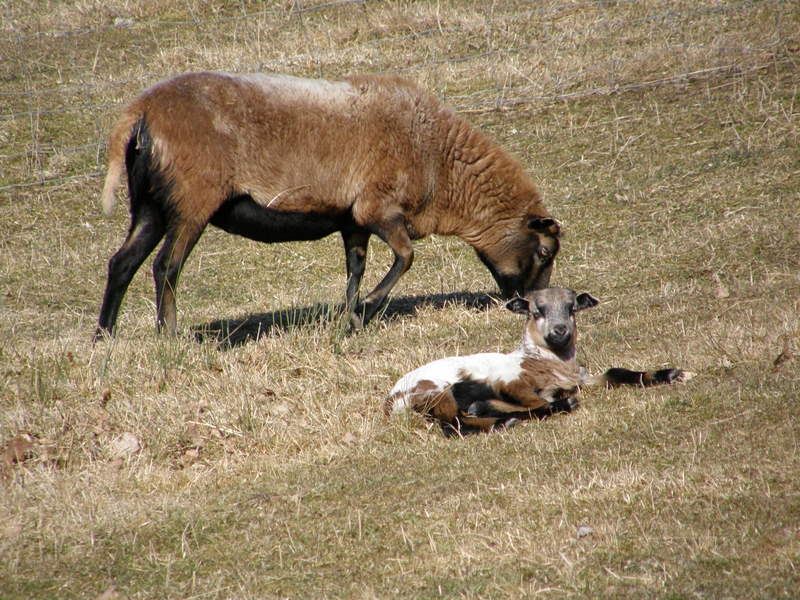
<instances>
[{"instance_id":1,"label":"large brown sheep with black belly, standing and grazing","mask_svg":"<svg viewBox=\"0 0 800 600\"><path fill-rule=\"evenodd\" d=\"M96 337L114 332L133 276L162 239L157 326L175 333L178 277L209 223L265 243L339 232L354 329L411 267L412 240L459 236L504 298L547 287L559 250L559 225L520 164L395 76L181 75L125 109L108 153L102 206L112 213L124 163L131 224L108 265ZM359 304L373 235L394 262Z\"/></svg>"}]
</instances>

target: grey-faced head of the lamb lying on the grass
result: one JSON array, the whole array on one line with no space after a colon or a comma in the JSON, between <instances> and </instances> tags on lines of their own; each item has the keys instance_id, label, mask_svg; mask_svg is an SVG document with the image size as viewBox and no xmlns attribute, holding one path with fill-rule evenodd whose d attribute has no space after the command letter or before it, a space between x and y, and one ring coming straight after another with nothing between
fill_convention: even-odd
<instances>
[{"instance_id":1,"label":"grey-faced head of the lamb lying on the grass","mask_svg":"<svg viewBox=\"0 0 800 600\"><path fill-rule=\"evenodd\" d=\"M526 354L554 354L561 360L575 357L577 328L575 313L600 301L591 294L578 294L566 288L546 288L512 298L506 302L511 312L528 317L522 336Z\"/></svg>"}]
</instances>

